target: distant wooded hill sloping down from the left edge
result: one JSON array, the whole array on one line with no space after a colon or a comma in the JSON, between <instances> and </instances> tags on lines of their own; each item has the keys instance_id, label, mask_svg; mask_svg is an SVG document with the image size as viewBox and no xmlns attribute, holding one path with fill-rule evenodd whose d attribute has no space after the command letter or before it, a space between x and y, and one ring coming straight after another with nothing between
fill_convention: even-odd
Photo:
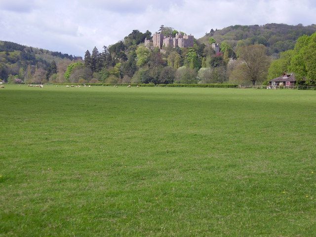
<instances>
[{"instance_id":1,"label":"distant wooded hill sloping down from the left edge","mask_svg":"<svg viewBox=\"0 0 316 237\"><path fill-rule=\"evenodd\" d=\"M6 80L9 74L17 75L20 68L26 71L28 65L32 68L38 66L47 70L53 61L58 64L63 59L74 60L77 58L80 57L14 42L0 41L0 79Z\"/></svg>"}]
</instances>

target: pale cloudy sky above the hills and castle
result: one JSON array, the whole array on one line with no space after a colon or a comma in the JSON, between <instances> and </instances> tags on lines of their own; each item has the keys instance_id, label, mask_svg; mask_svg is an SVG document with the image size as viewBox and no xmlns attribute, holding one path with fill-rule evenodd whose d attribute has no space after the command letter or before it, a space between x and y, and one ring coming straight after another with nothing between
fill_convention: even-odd
<instances>
[{"instance_id":1,"label":"pale cloudy sky above the hills and castle","mask_svg":"<svg viewBox=\"0 0 316 237\"><path fill-rule=\"evenodd\" d=\"M0 0L0 40L83 56L160 25L200 38L231 25L316 24L316 0Z\"/></svg>"}]
</instances>

